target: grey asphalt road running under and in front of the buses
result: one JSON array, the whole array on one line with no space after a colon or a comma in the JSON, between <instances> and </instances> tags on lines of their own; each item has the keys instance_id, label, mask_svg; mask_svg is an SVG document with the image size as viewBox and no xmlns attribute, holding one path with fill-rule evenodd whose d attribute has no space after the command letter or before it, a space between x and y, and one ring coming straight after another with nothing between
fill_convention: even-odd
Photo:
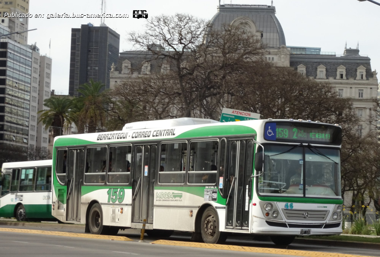
<instances>
[{"instance_id":1,"label":"grey asphalt road running under and in front of the buses","mask_svg":"<svg viewBox=\"0 0 380 257\"><path fill-rule=\"evenodd\" d=\"M0 226L1 228L17 228L22 227ZM39 228L25 227L29 230L47 230L47 231L62 231L71 233L83 233L84 228L56 229L56 228ZM124 256L124 255L140 255L140 256L176 256L181 257L191 256L197 257L210 255L217 256L273 256L273 254L254 253L254 252L239 252L229 250L215 250L204 248L190 248L182 246L158 245L150 244L157 238L145 237L145 243L138 242L139 230L119 231L118 236L126 236L135 241L123 242L113 240L73 238L52 235L36 235L24 234L16 232L0 232L0 256ZM190 235L173 235L168 240L190 242ZM271 241L254 241L251 238L229 237L226 244L251 246L260 248L284 249L274 245ZM353 255L380 256L380 251L369 249L363 244L362 247L350 246L335 246L327 243L309 244L309 243L293 243L288 246L290 250L316 251L316 252L331 252ZM289 253L288 253L289 254ZM277 254L276 254L277 255ZM279 254L277 256L289 256Z\"/></svg>"}]
</instances>

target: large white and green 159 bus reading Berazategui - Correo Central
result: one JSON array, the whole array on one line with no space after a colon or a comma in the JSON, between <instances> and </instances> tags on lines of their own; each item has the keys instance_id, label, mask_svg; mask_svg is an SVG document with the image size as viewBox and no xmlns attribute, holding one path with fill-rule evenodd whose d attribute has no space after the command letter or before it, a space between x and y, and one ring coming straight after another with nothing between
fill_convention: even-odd
<instances>
[{"instance_id":1,"label":"large white and green 159 bus reading Berazategui - Correo Central","mask_svg":"<svg viewBox=\"0 0 380 257\"><path fill-rule=\"evenodd\" d=\"M193 125L189 125L193 124ZM86 232L142 228L193 232L206 243L231 233L342 232L341 127L302 120L219 123L181 118L54 141L52 214Z\"/></svg>"}]
</instances>

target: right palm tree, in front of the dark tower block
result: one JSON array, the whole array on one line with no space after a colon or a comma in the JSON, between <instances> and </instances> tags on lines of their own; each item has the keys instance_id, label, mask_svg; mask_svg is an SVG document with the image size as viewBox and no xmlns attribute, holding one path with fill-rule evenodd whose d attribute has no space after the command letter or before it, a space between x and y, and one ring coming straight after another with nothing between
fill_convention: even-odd
<instances>
[{"instance_id":1,"label":"right palm tree, in front of the dark tower block","mask_svg":"<svg viewBox=\"0 0 380 257\"><path fill-rule=\"evenodd\" d=\"M80 97L77 104L81 108L78 110L78 118L87 124L88 133L95 133L98 126L102 127L105 123L104 104L108 90L102 91L104 87L101 82L91 79L90 83L85 83L78 89Z\"/></svg>"}]
</instances>

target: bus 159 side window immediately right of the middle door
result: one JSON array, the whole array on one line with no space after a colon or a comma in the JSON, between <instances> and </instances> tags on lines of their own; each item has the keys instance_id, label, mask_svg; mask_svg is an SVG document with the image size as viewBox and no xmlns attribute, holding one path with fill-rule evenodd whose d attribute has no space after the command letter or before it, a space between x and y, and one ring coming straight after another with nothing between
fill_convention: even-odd
<instances>
[{"instance_id":1,"label":"bus 159 side window immediately right of the middle door","mask_svg":"<svg viewBox=\"0 0 380 257\"><path fill-rule=\"evenodd\" d=\"M183 184L185 182L186 162L186 142L163 143L161 145L159 182Z\"/></svg>"}]
</instances>

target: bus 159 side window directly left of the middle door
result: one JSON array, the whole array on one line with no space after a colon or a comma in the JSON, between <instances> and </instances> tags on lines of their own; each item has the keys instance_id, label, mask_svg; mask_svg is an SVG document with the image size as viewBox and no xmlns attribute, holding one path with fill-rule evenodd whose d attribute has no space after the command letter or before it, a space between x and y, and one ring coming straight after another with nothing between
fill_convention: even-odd
<instances>
[{"instance_id":1,"label":"bus 159 side window directly left of the middle door","mask_svg":"<svg viewBox=\"0 0 380 257\"><path fill-rule=\"evenodd\" d=\"M111 146L108 158L108 183L128 184L131 177L131 145Z\"/></svg>"}]
</instances>

